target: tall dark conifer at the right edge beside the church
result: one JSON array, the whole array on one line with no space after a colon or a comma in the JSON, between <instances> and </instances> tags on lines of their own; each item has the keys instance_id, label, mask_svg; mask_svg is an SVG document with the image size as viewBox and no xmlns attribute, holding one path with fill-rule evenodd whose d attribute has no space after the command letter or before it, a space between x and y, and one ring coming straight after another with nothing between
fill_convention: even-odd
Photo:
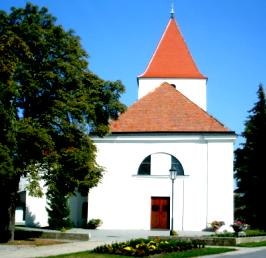
<instances>
[{"instance_id":1,"label":"tall dark conifer at the right edge beside the church","mask_svg":"<svg viewBox=\"0 0 266 258\"><path fill-rule=\"evenodd\" d=\"M260 85L258 102L249 111L242 136L245 142L235 151L235 178L237 183L235 216L252 228L266 229L266 100Z\"/></svg>"}]
</instances>

